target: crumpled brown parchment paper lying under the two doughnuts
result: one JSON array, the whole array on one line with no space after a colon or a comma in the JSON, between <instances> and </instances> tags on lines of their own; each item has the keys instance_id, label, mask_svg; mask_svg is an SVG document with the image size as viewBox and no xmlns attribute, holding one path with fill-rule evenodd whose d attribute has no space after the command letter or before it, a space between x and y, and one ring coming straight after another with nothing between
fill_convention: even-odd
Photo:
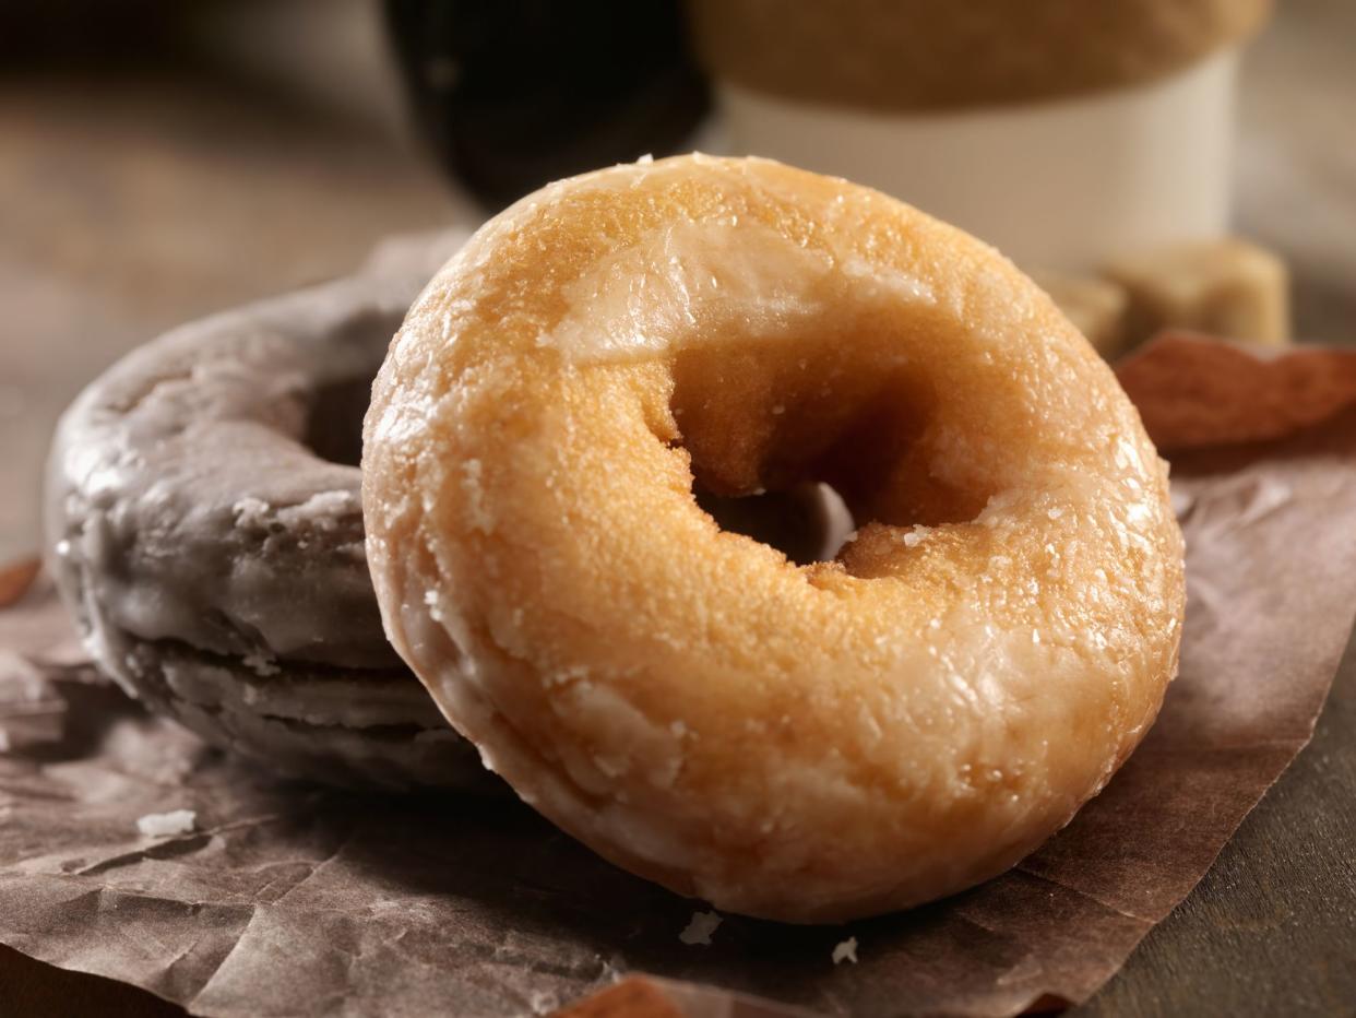
<instances>
[{"instance_id":1,"label":"crumpled brown parchment paper lying under the two doughnuts","mask_svg":"<svg viewBox=\"0 0 1356 1018\"><path fill-rule=\"evenodd\" d=\"M1173 463L1181 675L1102 795L1003 877L843 927L725 916L689 946L678 934L704 905L517 802L283 785L146 717L84 665L46 581L8 573L0 942L241 1018L546 1013L633 972L678 1003L609 1013L1083 1000L1309 740L1356 611L1356 353L1261 360L1166 337L1120 376ZM137 833L140 816L179 808L197 810L194 832ZM849 937L857 964L834 965Z\"/></svg>"}]
</instances>

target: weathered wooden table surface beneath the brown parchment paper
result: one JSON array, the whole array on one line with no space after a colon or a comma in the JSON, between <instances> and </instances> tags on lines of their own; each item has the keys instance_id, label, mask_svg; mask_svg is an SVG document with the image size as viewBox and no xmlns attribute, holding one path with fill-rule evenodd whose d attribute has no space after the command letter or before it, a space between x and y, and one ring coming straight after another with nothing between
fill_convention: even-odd
<instances>
[{"instance_id":1,"label":"weathered wooden table surface beneath the brown parchment paper","mask_svg":"<svg viewBox=\"0 0 1356 1018\"><path fill-rule=\"evenodd\" d=\"M1356 341L1356 4L1285 0L1245 65L1242 232L1295 271L1298 331ZM410 147L220 81L0 84L0 559L37 546L60 409L188 318L351 267L461 214ZM1356 654L1313 745L1081 1015L1356 1014ZM0 947L0 1013L175 1014Z\"/></svg>"}]
</instances>

